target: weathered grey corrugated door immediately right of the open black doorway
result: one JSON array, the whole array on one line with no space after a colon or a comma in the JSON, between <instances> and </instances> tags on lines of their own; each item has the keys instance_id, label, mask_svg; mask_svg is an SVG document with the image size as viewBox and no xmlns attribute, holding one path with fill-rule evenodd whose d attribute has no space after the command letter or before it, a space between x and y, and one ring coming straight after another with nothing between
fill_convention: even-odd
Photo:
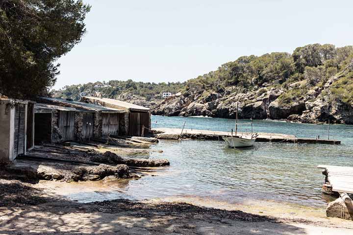
<instances>
[{"instance_id":1,"label":"weathered grey corrugated door immediately right of the open black doorway","mask_svg":"<svg viewBox=\"0 0 353 235\"><path fill-rule=\"evenodd\" d=\"M59 111L58 126L63 141L73 141L75 133L75 113L71 111Z\"/></svg>"}]
</instances>

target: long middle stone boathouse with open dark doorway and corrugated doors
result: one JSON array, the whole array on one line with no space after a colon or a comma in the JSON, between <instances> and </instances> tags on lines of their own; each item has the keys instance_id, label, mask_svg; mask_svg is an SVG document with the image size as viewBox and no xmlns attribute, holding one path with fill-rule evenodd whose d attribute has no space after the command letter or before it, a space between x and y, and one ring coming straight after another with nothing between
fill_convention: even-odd
<instances>
[{"instance_id":1,"label":"long middle stone boathouse with open dark doorway and corrugated doors","mask_svg":"<svg viewBox=\"0 0 353 235\"><path fill-rule=\"evenodd\" d=\"M36 142L82 141L124 130L126 111L61 98L41 97L36 105ZM61 138L62 137L62 138Z\"/></svg>"}]
</instances>

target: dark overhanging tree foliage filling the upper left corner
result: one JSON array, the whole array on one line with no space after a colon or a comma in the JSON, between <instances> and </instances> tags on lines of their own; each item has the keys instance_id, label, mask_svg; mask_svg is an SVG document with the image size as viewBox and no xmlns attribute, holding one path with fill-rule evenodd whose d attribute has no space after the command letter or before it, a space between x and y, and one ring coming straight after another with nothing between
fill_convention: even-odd
<instances>
[{"instance_id":1,"label":"dark overhanging tree foliage filling the upper left corner","mask_svg":"<svg viewBox=\"0 0 353 235\"><path fill-rule=\"evenodd\" d=\"M54 85L55 61L80 42L81 0L0 0L0 93L16 98Z\"/></svg>"}]
</instances>

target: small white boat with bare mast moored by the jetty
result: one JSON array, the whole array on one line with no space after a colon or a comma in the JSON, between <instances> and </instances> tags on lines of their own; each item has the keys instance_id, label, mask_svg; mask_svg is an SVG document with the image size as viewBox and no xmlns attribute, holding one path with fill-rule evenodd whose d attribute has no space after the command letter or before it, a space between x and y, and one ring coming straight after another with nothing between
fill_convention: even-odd
<instances>
[{"instance_id":1,"label":"small white boat with bare mast moored by the jetty","mask_svg":"<svg viewBox=\"0 0 353 235\"><path fill-rule=\"evenodd\" d=\"M254 144L257 133L252 135L245 135L245 136L237 136L238 130L238 104L239 100L237 101L237 110L236 110L236 118L235 118L235 136L233 136L233 129L231 131L231 136L223 137L223 140L226 141L227 145L231 148L237 147L250 147Z\"/></svg>"}]
</instances>

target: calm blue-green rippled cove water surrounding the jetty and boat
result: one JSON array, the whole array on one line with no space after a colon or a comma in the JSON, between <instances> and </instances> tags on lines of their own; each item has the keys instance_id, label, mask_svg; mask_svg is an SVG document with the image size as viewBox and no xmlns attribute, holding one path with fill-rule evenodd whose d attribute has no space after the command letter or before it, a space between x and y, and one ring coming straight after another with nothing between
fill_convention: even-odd
<instances>
[{"instance_id":1,"label":"calm blue-green rippled cove water surrounding the jetty and boat","mask_svg":"<svg viewBox=\"0 0 353 235\"><path fill-rule=\"evenodd\" d=\"M152 127L229 131L234 120L152 116ZM249 122L249 120L241 120ZM253 121L254 131L327 138L328 125L279 121ZM240 131L249 130L241 126ZM106 183L105 192L71 194L80 201L115 198L205 197L239 203L246 196L301 205L327 205L321 194L324 176L318 164L353 166L353 126L330 125L330 136L341 145L261 143L247 149L230 149L224 141L160 141L150 158L167 158L170 167L123 184Z\"/></svg>"}]
</instances>

